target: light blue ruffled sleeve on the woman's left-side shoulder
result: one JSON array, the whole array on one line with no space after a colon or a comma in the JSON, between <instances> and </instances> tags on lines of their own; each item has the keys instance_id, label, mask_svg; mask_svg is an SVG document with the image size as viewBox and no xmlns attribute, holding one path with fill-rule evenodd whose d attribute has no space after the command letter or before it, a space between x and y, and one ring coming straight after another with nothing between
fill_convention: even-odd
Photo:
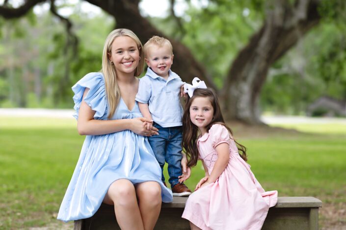
<instances>
[{"instance_id":1,"label":"light blue ruffled sleeve on the woman's left-side shoulder","mask_svg":"<svg viewBox=\"0 0 346 230\"><path fill-rule=\"evenodd\" d=\"M95 119L105 119L107 115L107 99L106 99L106 86L102 73L91 72L81 78L73 87L72 91L75 93L73 100L76 113L73 115L78 119L80 104L83 98L85 88L90 89L84 97L84 101L96 113Z\"/></svg>"}]
</instances>

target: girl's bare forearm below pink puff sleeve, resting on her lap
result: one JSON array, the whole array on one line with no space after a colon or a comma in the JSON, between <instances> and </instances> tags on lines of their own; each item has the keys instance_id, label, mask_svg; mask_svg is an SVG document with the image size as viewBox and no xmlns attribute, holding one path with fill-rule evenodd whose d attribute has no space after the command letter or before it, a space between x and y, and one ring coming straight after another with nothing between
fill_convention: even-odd
<instances>
[{"instance_id":1,"label":"girl's bare forearm below pink puff sleeve, resting on her lap","mask_svg":"<svg viewBox=\"0 0 346 230\"><path fill-rule=\"evenodd\" d=\"M217 160L214 164L212 173L207 180L209 183L214 183L219 178L221 173L225 170L230 159L228 143L221 143L217 145L215 149L217 152Z\"/></svg>"}]
</instances>

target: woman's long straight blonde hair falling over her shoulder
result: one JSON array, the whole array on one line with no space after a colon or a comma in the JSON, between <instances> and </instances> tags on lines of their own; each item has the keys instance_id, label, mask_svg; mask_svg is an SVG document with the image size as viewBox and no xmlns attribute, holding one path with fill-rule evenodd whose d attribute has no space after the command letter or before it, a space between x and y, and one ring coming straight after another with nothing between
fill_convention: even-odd
<instances>
[{"instance_id":1,"label":"woman's long straight blonde hair falling over her shoulder","mask_svg":"<svg viewBox=\"0 0 346 230\"><path fill-rule=\"evenodd\" d=\"M128 36L133 39L133 41L137 44L137 48L139 51L139 63L134 72L134 76L139 76L143 71L144 67L144 53L143 46L140 43L138 37L129 29L115 29L109 33L106 38L103 54L102 54L102 70L101 72L105 77L106 84L106 95L108 102L108 119L111 118L116 110L116 107L119 104L119 100L121 97L120 89L117 83L116 69L114 65L111 63L108 57L108 53L111 53L111 47L114 39L120 36Z\"/></svg>"}]
</instances>

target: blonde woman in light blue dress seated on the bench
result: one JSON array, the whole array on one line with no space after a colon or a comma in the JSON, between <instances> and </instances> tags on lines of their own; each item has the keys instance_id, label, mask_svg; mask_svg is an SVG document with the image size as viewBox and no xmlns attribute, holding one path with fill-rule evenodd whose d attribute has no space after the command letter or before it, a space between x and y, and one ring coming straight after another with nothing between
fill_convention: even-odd
<instances>
[{"instance_id":1,"label":"blonde woman in light blue dress seated on the bench","mask_svg":"<svg viewBox=\"0 0 346 230\"><path fill-rule=\"evenodd\" d=\"M58 219L92 216L104 202L114 205L121 229L153 229L162 202L172 193L161 182L161 169L146 137L137 102L144 66L143 48L128 29L116 29L107 39L102 70L85 75L72 87L78 132L86 135L80 159L62 201ZM183 160L186 169L186 159Z\"/></svg>"}]
</instances>

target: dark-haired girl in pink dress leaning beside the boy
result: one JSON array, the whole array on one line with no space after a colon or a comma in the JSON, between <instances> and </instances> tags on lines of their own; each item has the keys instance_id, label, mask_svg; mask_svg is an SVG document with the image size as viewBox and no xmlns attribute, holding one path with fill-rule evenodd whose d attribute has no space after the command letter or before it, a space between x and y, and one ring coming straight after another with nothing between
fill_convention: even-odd
<instances>
[{"instance_id":1,"label":"dark-haired girl in pink dress leaning beside the boy","mask_svg":"<svg viewBox=\"0 0 346 230\"><path fill-rule=\"evenodd\" d=\"M187 202L183 218L192 230L260 230L277 191L265 192L246 161L245 147L232 138L215 93L189 89L183 116L188 166L202 160L205 177ZM239 146L239 147L237 147Z\"/></svg>"}]
</instances>

